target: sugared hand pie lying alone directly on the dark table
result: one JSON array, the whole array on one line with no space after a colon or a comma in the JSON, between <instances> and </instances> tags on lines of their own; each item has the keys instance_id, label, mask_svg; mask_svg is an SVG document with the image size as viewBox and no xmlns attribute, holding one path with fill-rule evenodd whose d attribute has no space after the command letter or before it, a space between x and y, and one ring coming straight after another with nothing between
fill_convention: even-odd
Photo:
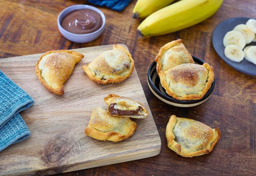
<instances>
[{"instance_id":1,"label":"sugared hand pie lying alone directly on the dark table","mask_svg":"<svg viewBox=\"0 0 256 176\"><path fill-rule=\"evenodd\" d=\"M219 128L189 118L172 115L166 126L168 147L183 157L210 153L220 139Z\"/></svg>"}]
</instances>

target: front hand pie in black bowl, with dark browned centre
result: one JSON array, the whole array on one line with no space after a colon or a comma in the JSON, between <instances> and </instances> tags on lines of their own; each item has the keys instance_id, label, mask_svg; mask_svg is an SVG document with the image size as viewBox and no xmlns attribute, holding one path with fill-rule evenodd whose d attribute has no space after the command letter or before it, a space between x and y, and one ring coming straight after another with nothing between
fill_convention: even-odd
<instances>
[{"instance_id":1,"label":"front hand pie in black bowl, with dark browned centre","mask_svg":"<svg viewBox=\"0 0 256 176\"><path fill-rule=\"evenodd\" d=\"M203 98L214 81L213 68L204 63L181 64L161 70L160 81L166 93L178 100L198 100Z\"/></svg>"}]
</instances>

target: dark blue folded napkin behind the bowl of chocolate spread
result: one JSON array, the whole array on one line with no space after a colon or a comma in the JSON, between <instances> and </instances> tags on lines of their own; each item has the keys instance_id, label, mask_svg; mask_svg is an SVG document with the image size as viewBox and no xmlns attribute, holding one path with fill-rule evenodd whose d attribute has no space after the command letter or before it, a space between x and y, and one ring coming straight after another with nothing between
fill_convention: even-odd
<instances>
[{"instance_id":1,"label":"dark blue folded napkin behind the bowl of chocolate spread","mask_svg":"<svg viewBox=\"0 0 256 176\"><path fill-rule=\"evenodd\" d=\"M121 12L126 8L126 6L128 6L131 0L88 0L88 2L96 6L106 6L112 10Z\"/></svg>"}]
</instances>

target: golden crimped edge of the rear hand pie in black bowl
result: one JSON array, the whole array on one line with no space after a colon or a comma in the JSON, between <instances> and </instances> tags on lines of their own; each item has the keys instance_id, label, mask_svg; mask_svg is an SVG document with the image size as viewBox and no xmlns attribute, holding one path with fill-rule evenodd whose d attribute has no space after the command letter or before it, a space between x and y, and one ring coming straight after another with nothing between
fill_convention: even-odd
<instances>
[{"instance_id":1,"label":"golden crimped edge of the rear hand pie in black bowl","mask_svg":"<svg viewBox=\"0 0 256 176\"><path fill-rule=\"evenodd\" d=\"M161 64L161 57L162 55L164 54L164 52L168 49L170 49L172 46L175 46L177 44L180 44L182 43L182 40L181 39L178 39L178 40L174 40L172 42L169 42L167 44L165 44L164 46L162 46L156 56L156 58L154 59L154 61L156 62L156 72L157 74L159 75L159 72L161 71L161 68L162 68L162 64Z\"/></svg>"}]
</instances>

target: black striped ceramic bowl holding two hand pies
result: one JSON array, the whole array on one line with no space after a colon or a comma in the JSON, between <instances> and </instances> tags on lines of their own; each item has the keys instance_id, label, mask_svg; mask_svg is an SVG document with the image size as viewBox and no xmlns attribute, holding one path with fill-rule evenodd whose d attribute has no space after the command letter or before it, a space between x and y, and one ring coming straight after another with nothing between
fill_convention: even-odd
<instances>
[{"instance_id":1,"label":"black striped ceramic bowl holding two hand pies","mask_svg":"<svg viewBox=\"0 0 256 176\"><path fill-rule=\"evenodd\" d=\"M197 64L204 64L204 61L200 60L199 58L192 56L194 59L194 62ZM215 85L215 79L212 82L212 86L208 90L208 92L204 95L204 97L200 100L177 100L166 94L165 89L162 87L160 83L160 78L158 77L158 74L156 72L156 62L152 62L150 67L148 68L148 86L151 90L151 92L161 101L170 104L172 106L178 106L178 107L193 107L197 106L199 104L202 104L210 98L213 88Z\"/></svg>"}]
</instances>

